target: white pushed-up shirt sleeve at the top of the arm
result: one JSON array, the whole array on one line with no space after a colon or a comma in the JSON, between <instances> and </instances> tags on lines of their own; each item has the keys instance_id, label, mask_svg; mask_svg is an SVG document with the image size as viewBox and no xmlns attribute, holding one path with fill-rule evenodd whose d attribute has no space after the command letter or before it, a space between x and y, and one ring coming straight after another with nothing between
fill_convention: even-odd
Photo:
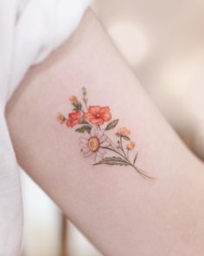
<instances>
[{"instance_id":1,"label":"white pushed-up shirt sleeve at the top of the arm","mask_svg":"<svg viewBox=\"0 0 204 256\"><path fill-rule=\"evenodd\" d=\"M10 90L29 67L41 62L80 23L90 0L28 0L19 10L13 37Z\"/></svg>"}]
</instances>

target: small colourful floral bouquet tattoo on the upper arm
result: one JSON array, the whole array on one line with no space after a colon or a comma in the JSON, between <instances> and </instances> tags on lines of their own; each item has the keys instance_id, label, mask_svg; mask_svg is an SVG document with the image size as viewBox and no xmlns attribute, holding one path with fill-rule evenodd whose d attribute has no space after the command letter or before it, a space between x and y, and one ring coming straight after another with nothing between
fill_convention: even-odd
<instances>
[{"instance_id":1,"label":"small colourful floral bouquet tattoo on the upper arm","mask_svg":"<svg viewBox=\"0 0 204 256\"><path fill-rule=\"evenodd\" d=\"M118 165L133 167L143 178L152 178L136 166L137 153L132 161L130 151L135 148L131 141L131 131L128 128L118 128L115 133L116 142L112 141L110 130L118 125L118 119L112 120L111 109L98 105L89 106L86 88L82 89L82 100L71 96L69 101L73 105L72 113L67 117L58 113L57 121L65 123L67 128L76 126L75 131L80 133L80 151L85 157L92 157L93 166ZM110 153L111 155L107 154Z\"/></svg>"}]
</instances>

